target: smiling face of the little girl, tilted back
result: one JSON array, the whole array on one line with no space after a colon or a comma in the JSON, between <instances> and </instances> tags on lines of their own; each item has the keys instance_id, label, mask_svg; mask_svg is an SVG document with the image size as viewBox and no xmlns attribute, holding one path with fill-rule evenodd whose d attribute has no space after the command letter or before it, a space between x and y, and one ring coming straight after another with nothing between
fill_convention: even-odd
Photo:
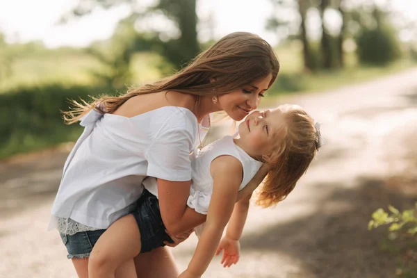
<instances>
[{"instance_id":1,"label":"smiling face of the little girl, tilted back","mask_svg":"<svg viewBox=\"0 0 417 278\"><path fill-rule=\"evenodd\" d=\"M239 145L252 157L271 154L284 125L284 113L279 108L255 111L239 124Z\"/></svg>"}]
</instances>

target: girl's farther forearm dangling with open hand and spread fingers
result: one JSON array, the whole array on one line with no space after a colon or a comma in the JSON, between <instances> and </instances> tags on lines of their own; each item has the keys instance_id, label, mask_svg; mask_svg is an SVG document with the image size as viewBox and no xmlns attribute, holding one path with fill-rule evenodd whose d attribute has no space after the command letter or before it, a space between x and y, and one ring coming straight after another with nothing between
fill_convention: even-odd
<instances>
[{"instance_id":1,"label":"girl's farther forearm dangling with open hand and spread fingers","mask_svg":"<svg viewBox=\"0 0 417 278\"><path fill-rule=\"evenodd\" d=\"M247 195L240 199L235 206L229 224L227 225L226 236L220 240L216 256L223 251L222 265L230 267L232 263L236 264L240 258L239 239L242 236L243 227L245 226L247 211L249 211L249 202L252 195Z\"/></svg>"}]
</instances>

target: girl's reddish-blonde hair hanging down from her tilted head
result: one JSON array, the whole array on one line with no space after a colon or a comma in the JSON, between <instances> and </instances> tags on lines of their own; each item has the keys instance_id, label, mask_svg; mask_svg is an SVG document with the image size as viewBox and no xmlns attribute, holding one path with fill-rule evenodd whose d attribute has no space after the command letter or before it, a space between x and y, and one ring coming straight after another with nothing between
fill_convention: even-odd
<instances>
[{"instance_id":1,"label":"girl's reddish-blonde hair hanging down from her tilted head","mask_svg":"<svg viewBox=\"0 0 417 278\"><path fill-rule=\"evenodd\" d=\"M270 163L270 171L259 188L256 204L272 206L284 200L306 172L320 144L320 131L314 120L300 106L278 107L284 116L284 126L279 133L277 148L264 157Z\"/></svg>"}]
</instances>

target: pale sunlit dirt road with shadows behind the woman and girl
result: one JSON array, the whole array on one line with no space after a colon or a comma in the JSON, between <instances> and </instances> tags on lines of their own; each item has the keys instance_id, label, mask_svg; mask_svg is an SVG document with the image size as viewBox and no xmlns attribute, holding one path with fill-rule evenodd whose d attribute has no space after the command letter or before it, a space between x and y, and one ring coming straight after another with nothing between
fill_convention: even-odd
<instances>
[{"instance_id":1,"label":"pale sunlit dirt road with shadows behind the woman and girl","mask_svg":"<svg viewBox=\"0 0 417 278\"><path fill-rule=\"evenodd\" d=\"M327 145L284 202L252 206L238 265L223 269L217 258L204 277L395 277L394 259L380 249L383 231L366 224L376 208L412 204L407 188L389 181L417 177L409 166L417 154L417 69L281 102L322 122ZM76 277L58 233L46 231L66 156L61 149L0 163L0 277ZM179 268L196 243L191 236L172 250Z\"/></svg>"}]
</instances>

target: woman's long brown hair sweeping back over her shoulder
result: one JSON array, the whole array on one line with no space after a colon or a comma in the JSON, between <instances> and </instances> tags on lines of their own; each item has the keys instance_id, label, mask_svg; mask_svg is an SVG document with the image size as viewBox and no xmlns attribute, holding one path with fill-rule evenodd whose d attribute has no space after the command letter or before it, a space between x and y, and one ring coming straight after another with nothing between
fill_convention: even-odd
<instances>
[{"instance_id":1,"label":"woman's long brown hair sweeping back over her shoulder","mask_svg":"<svg viewBox=\"0 0 417 278\"><path fill-rule=\"evenodd\" d=\"M128 90L117 97L102 96L93 98L90 103L73 100L74 108L63 113L64 120L72 124L92 109L113 113L125 101L141 94L174 90L199 96L224 95L268 74L272 74L272 85L278 72L279 62L268 42L252 33L231 33L166 79Z\"/></svg>"}]
</instances>

